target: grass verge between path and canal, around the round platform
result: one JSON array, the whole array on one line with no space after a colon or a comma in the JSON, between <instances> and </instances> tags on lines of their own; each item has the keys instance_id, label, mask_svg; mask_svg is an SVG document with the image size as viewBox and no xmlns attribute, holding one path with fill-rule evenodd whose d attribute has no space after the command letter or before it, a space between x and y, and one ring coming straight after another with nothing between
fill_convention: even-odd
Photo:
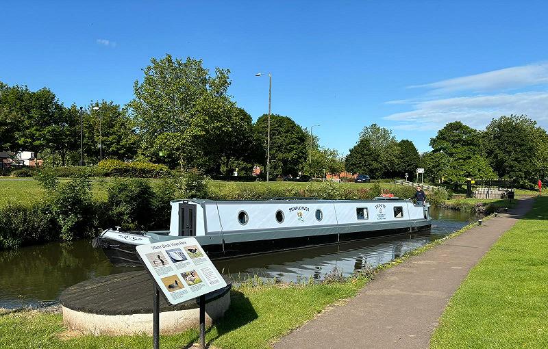
<instances>
[{"instance_id":1,"label":"grass verge between path and canal, around the round platform","mask_svg":"<svg viewBox=\"0 0 548 349\"><path fill-rule=\"evenodd\" d=\"M379 266L373 274L397 266L474 225L469 224L460 231ZM206 340L212 346L223 349L270 348L273 341L302 326L329 305L356 296L371 276L371 271L365 271L347 279L335 274L326 275L325 281L319 284L244 283L232 290L231 305L225 318L208 330ZM71 337L65 331L59 314L21 311L0 315L0 348L150 348L152 344L151 337L147 335ZM162 336L161 348L184 348L197 339L197 330Z\"/></svg>"}]
</instances>

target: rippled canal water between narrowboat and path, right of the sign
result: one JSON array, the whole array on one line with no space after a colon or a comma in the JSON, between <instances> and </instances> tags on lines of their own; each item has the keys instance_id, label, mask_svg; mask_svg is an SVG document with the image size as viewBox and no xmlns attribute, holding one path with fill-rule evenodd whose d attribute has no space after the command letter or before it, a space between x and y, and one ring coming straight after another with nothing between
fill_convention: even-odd
<instances>
[{"instance_id":1,"label":"rippled canal water between narrowboat and path, right of the sign","mask_svg":"<svg viewBox=\"0 0 548 349\"><path fill-rule=\"evenodd\" d=\"M215 265L223 274L233 280L245 280L260 276L280 281L319 280L337 268L338 272L349 276L356 270L378 266L408 253L464 227L477 217L460 211L444 209L432 210L430 234L400 235L371 240L358 240L343 244L270 253L251 257L216 261Z\"/></svg>"}]
</instances>

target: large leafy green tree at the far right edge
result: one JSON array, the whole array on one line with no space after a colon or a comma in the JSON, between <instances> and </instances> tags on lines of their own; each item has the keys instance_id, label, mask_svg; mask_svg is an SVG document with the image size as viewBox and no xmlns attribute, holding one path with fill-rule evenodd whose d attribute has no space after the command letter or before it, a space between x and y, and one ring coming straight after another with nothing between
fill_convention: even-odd
<instances>
[{"instance_id":1,"label":"large leafy green tree at the far right edge","mask_svg":"<svg viewBox=\"0 0 548 349\"><path fill-rule=\"evenodd\" d=\"M546 131L525 115L501 116L484 131L485 150L499 177L531 185L547 168Z\"/></svg>"}]
</instances>

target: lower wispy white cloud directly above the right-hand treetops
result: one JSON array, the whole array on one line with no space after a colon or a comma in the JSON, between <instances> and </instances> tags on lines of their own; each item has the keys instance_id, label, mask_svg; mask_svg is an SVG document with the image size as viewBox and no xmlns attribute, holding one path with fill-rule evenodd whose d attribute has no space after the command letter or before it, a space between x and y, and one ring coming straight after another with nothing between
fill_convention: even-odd
<instances>
[{"instance_id":1,"label":"lower wispy white cloud directly above the right-hand treetops","mask_svg":"<svg viewBox=\"0 0 548 349\"><path fill-rule=\"evenodd\" d=\"M393 129L436 131L456 120L483 129L492 118L527 114L540 126L548 126L548 91L499 93L409 102L414 110L385 116Z\"/></svg>"}]
</instances>

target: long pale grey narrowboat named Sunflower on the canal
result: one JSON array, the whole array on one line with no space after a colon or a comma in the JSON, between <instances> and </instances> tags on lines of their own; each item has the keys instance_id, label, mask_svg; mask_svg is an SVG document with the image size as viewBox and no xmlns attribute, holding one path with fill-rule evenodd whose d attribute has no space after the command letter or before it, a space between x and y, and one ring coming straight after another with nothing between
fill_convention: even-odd
<instances>
[{"instance_id":1,"label":"long pale grey narrowboat named Sunflower on the canal","mask_svg":"<svg viewBox=\"0 0 548 349\"><path fill-rule=\"evenodd\" d=\"M408 199L171 201L166 231L106 229L92 240L116 265L139 263L135 247L195 237L212 259L429 231L429 205Z\"/></svg>"}]
</instances>

